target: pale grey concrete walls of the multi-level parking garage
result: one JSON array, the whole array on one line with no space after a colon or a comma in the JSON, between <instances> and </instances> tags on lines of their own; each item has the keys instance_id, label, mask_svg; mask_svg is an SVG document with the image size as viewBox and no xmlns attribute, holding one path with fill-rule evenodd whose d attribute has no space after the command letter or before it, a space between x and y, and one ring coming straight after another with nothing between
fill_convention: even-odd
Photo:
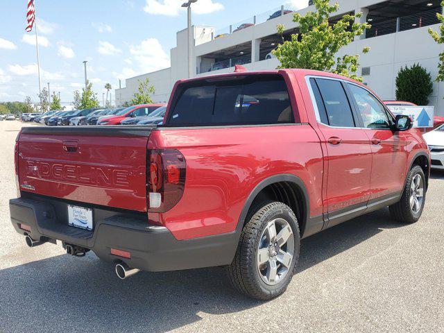
<instances>
[{"instance_id":1,"label":"pale grey concrete walls of the multi-level parking garage","mask_svg":"<svg viewBox=\"0 0 444 333\"><path fill-rule=\"evenodd\" d=\"M335 13L342 15L350 11L363 11L366 6L373 5L383 1L379 0L340 0L340 10ZM308 10L314 10L313 6L300 10L300 14L304 15ZM365 10L364 10L365 12ZM292 21L293 15L287 14L282 17L257 24L250 28L246 28L231 35L206 42L211 39L214 29L207 26L195 26L194 37L195 46L193 48L194 68L200 69L201 61L208 61L201 56L207 53L227 49L228 47L252 42L252 48L262 37L273 35L276 33L276 26L284 24L286 29L296 28L297 25ZM434 26L426 26L422 28L414 28L409 31L401 31L389 35L382 35L369 39L359 39L350 43L343 48L338 56L344 53L359 54L361 56L361 67L370 67L370 75L364 76L364 83L371 89L375 90L382 99L395 99L395 77L399 69L405 65L413 65L418 62L431 72L432 78L436 77L438 72L438 53L442 51L442 47L438 46L429 34L428 28L438 31L438 24ZM370 46L368 54L361 54L365 46ZM253 50L252 50L253 51ZM255 53L252 52L252 57ZM255 58L257 59L257 58ZM253 60L255 60L253 59ZM203 67L208 67L204 64ZM244 65L248 70L257 69L275 69L279 62L276 59L253 61ZM196 76L207 76L212 74L227 73L233 71L234 68L220 69L218 71L204 72L196 74ZM360 73L360 69L359 69ZM187 29L177 33L177 46L171 49L171 69L165 69L152 74L145 74L136 78L126 80L127 87L116 90L116 101L127 101L130 99L137 89L137 78L150 77L151 83L156 87L155 101L168 101L168 95L177 80L187 78ZM119 99L121 94L121 99ZM430 96L430 105L436 106L436 114L444 116L444 83L434 83L434 92Z\"/></svg>"}]
</instances>

